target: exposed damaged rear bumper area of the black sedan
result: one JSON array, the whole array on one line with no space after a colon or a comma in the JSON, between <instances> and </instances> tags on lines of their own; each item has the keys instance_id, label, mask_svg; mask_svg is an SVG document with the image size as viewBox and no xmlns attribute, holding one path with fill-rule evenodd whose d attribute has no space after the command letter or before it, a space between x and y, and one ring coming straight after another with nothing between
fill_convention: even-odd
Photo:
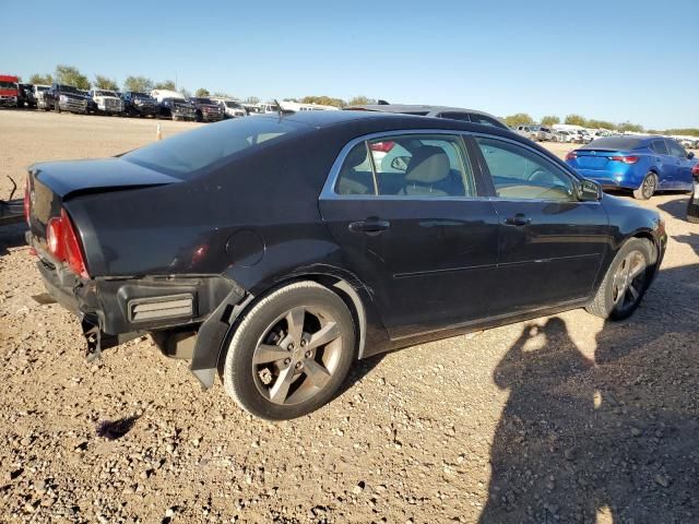
<instances>
[{"instance_id":1,"label":"exposed damaged rear bumper area of the black sedan","mask_svg":"<svg viewBox=\"0 0 699 524\"><path fill-rule=\"evenodd\" d=\"M82 279L44 258L37 266L51 298L80 319L88 361L151 334L165 355L191 359L192 373L206 388L230 324L251 299L220 275Z\"/></svg>"}]
</instances>

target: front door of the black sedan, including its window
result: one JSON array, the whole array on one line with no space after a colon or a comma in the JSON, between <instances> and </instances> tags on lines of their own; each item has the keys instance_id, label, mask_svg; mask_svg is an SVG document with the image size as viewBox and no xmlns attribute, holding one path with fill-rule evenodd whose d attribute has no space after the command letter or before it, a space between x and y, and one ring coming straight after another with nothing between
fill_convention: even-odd
<instances>
[{"instance_id":1,"label":"front door of the black sedan, including its window","mask_svg":"<svg viewBox=\"0 0 699 524\"><path fill-rule=\"evenodd\" d=\"M474 136L499 221L491 315L589 297L611 241L600 202L577 199L576 178L533 147Z\"/></svg>"}]
</instances>

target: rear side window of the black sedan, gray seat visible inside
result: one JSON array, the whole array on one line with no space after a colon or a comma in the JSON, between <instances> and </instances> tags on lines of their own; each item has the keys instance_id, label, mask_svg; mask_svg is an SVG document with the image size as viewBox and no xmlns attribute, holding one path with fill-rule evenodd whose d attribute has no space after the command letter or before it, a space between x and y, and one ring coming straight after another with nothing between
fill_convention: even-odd
<instances>
[{"instance_id":1,"label":"rear side window of the black sedan, gray seat visible inside","mask_svg":"<svg viewBox=\"0 0 699 524\"><path fill-rule=\"evenodd\" d=\"M360 142L340 169L337 194L475 196L471 163L459 136L396 135Z\"/></svg>"}]
</instances>

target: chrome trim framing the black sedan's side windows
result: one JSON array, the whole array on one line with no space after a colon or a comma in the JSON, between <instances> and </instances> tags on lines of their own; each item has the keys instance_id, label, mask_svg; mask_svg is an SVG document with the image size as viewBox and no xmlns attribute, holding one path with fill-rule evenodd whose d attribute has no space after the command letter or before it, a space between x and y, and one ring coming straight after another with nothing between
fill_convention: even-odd
<instances>
[{"instance_id":1,"label":"chrome trim framing the black sedan's side windows","mask_svg":"<svg viewBox=\"0 0 699 524\"><path fill-rule=\"evenodd\" d=\"M323 189L320 192L319 195L319 200L333 200L333 201L411 201L411 202L472 202L472 201L478 201L478 202L542 202L542 203L578 203L578 204L595 204L595 205L600 205L601 204L601 200L599 201L568 201L568 200L549 200L549 199L502 199L499 196L439 196L439 198L419 198L419 196L410 196L406 198L405 195L400 195L400 194L337 194L334 191L334 187L335 183L337 181L337 177L340 176L340 169L342 169L342 165L344 164L347 155L350 154L350 152L352 151L352 148L362 143L362 142L367 142L369 140L374 140L374 139L380 139L380 138L386 138L386 136L390 136L390 135L406 135L406 134L447 134L447 135L451 135L451 136L461 136L462 139L464 136L482 136L484 139L491 139L491 140L501 140L501 141L506 141L506 142L510 142L514 145L519 145L521 147L526 148L528 151L531 151L532 153L536 154L537 156L544 158L546 162L552 163L554 165L556 165L557 167L559 167L564 172L566 172L567 175L571 176L573 178L573 180L578 180L581 181L582 178L579 177L577 174L571 174L568 166L566 165L566 168L559 166L558 164L553 163L549 158L546 158L546 156L542 155L541 152L536 151L534 147L531 147L528 144L522 144L521 142L518 142L516 140L506 138L506 136L499 136L499 135L493 135L493 134L486 134L483 132L473 132L473 131L462 131L462 130L454 130L454 129L396 129L396 130L390 130L390 131L380 131L380 132L376 132L376 133L369 133L369 134L364 134L362 136L357 136L355 139L352 139L350 142L347 142L342 150L340 150L340 153L337 154L335 160L332 164L332 167L330 168L330 172L328 175L328 178L325 179L325 183L323 184ZM477 144L476 144L477 145ZM467 152L466 152L467 153ZM475 177L475 174L473 174Z\"/></svg>"}]
</instances>

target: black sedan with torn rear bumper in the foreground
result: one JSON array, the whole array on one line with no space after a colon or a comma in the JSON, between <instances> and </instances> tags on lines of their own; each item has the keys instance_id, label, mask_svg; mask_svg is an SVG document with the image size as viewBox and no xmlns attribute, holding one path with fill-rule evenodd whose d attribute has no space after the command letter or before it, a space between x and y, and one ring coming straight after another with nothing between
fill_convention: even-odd
<instances>
[{"instance_id":1,"label":"black sedan with torn rear bumper in the foreground","mask_svg":"<svg viewBox=\"0 0 699 524\"><path fill-rule=\"evenodd\" d=\"M656 212L510 131L364 111L37 164L25 209L88 358L150 333L269 419L381 352L580 307L624 319L666 245Z\"/></svg>"}]
</instances>

